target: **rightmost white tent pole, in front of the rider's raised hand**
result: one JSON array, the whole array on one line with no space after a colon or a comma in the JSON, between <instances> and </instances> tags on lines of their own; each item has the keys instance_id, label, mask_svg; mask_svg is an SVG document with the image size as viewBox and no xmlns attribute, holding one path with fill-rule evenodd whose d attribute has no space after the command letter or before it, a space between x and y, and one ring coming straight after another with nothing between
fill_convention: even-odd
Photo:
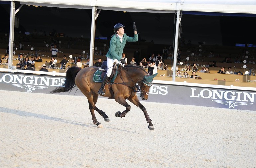
<instances>
[{"instance_id":1,"label":"rightmost white tent pole, in front of the rider's raised hand","mask_svg":"<svg viewBox=\"0 0 256 168\"><path fill-rule=\"evenodd\" d=\"M172 81L175 81L176 74L176 63L177 63L177 55L178 55L178 38L179 38L179 29L180 29L180 11L177 11L176 16L176 30L175 30L175 42L174 42L174 54L173 54L173 76Z\"/></svg>"}]
</instances>

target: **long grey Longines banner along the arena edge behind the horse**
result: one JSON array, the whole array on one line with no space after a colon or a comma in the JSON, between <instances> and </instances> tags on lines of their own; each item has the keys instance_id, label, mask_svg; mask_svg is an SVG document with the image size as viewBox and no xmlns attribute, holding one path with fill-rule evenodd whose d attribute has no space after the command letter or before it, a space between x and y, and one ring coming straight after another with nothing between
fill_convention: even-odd
<instances>
[{"instance_id":1,"label":"long grey Longines banner along the arena edge behind the horse","mask_svg":"<svg viewBox=\"0 0 256 168\"><path fill-rule=\"evenodd\" d=\"M64 77L0 72L0 90L49 93L64 82ZM79 89L62 94L83 96ZM255 111L255 95L254 91L153 84L147 101Z\"/></svg>"}]
</instances>

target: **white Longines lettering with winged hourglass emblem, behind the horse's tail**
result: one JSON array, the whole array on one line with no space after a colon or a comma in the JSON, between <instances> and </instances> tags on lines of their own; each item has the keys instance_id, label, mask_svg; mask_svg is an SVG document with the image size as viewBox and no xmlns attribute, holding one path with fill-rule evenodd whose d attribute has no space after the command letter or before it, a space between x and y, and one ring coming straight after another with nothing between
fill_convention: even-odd
<instances>
[{"instance_id":1,"label":"white Longines lettering with winged hourglass emblem, behind the horse's tail","mask_svg":"<svg viewBox=\"0 0 256 168\"><path fill-rule=\"evenodd\" d=\"M33 90L44 89L49 86L62 86L65 78L4 74L0 78L0 82L11 83L13 86L26 89L27 92L33 92Z\"/></svg>"}]
</instances>

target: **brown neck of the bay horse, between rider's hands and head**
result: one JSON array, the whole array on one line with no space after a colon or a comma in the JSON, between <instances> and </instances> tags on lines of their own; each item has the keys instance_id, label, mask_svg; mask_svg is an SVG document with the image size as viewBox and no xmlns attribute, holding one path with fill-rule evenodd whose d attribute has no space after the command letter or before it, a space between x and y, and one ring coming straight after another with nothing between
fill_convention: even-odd
<instances>
[{"instance_id":1,"label":"brown neck of the bay horse, between rider's hands and head","mask_svg":"<svg viewBox=\"0 0 256 168\"><path fill-rule=\"evenodd\" d=\"M127 71L124 69L126 69ZM130 80L131 78L132 79L131 82L134 82L134 83L143 80L143 77L148 74L145 70L136 66L127 66L123 68L123 70L124 70L123 72L128 73L128 80Z\"/></svg>"}]
</instances>

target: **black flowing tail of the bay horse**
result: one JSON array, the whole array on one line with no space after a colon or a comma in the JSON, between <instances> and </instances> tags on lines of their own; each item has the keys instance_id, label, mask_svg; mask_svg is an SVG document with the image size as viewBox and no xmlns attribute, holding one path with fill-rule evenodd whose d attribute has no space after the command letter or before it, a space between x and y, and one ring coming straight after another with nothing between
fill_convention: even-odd
<instances>
[{"instance_id":1,"label":"black flowing tail of the bay horse","mask_svg":"<svg viewBox=\"0 0 256 168\"><path fill-rule=\"evenodd\" d=\"M55 90L52 90L50 93L70 91L75 86L75 77L80 70L80 68L75 66L69 68L66 73L65 83L62 86L55 88Z\"/></svg>"}]
</instances>

